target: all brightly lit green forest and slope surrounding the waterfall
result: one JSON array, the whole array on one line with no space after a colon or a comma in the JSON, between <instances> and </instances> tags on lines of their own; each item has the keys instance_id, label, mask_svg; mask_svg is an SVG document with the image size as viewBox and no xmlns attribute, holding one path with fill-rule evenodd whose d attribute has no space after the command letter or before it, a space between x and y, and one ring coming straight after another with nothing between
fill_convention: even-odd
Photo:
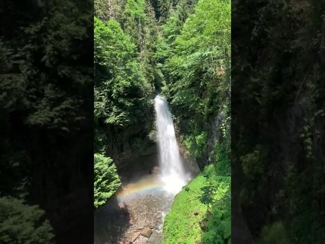
<instances>
[{"instance_id":1,"label":"all brightly lit green forest and slope surrounding the waterfall","mask_svg":"<svg viewBox=\"0 0 325 244\"><path fill-rule=\"evenodd\" d=\"M159 94L202 171L176 196L163 243L231 243L231 1L96 0L94 11L94 207L155 143Z\"/></svg>"}]
</instances>

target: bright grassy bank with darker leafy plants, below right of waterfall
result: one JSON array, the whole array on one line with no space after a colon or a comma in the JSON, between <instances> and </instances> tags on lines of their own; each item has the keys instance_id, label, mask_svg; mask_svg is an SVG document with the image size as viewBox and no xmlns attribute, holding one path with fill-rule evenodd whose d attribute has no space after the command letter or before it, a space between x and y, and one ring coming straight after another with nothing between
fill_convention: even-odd
<instances>
[{"instance_id":1,"label":"bright grassy bank with darker leafy plants, below right of waterfall","mask_svg":"<svg viewBox=\"0 0 325 244\"><path fill-rule=\"evenodd\" d=\"M208 165L176 195L163 243L230 243L230 217L230 177Z\"/></svg>"}]
</instances>

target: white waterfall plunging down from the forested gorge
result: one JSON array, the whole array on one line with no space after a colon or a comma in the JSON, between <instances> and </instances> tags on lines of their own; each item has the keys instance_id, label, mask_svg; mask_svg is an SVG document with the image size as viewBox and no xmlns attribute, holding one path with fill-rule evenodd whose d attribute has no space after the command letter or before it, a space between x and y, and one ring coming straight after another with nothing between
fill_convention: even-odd
<instances>
[{"instance_id":1,"label":"white waterfall plunging down from the forested gorge","mask_svg":"<svg viewBox=\"0 0 325 244\"><path fill-rule=\"evenodd\" d=\"M187 177L179 154L172 116L163 97L155 97L154 107L161 178L165 183L165 190L176 194L186 184Z\"/></svg>"}]
</instances>

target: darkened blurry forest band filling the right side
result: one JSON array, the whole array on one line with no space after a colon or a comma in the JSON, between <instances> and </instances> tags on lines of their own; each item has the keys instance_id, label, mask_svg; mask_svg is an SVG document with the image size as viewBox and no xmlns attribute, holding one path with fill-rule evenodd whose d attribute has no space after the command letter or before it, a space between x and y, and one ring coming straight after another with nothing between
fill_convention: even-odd
<instances>
[{"instance_id":1,"label":"darkened blurry forest band filling the right side","mask_svg":"<svg viewBox=\"0 0 325 244\"><path fill-rule=\"evenodd\" d=\"M324 1L233 1L234 243L323 243Z\"/></svg>"}]
</instances>

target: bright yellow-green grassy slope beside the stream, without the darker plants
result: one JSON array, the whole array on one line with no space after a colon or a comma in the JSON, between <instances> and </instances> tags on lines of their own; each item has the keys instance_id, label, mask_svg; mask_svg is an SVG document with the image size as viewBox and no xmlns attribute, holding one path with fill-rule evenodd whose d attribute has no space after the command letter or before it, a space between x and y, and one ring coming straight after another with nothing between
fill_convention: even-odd
<instances>
[{"instance_id":1,"label":"bright yellow-green grassy slope beside the stream, without the darker plants","mask_svg":"<svg viewBox=\"0 0 325 244\"><path fill-rule=\"evenodd\" d=\"M186 192L183 189L176 195L172 209L165 219L163 244L201 243L202 230L200 228L200 221L206 216L207 205L204 205L197 199L199 196L197 193L202 193L200 189L208 186L208 180L204 175L209 175L210 179L215 178L213 168L212 165L209 165L203 173L189 182L186 187L191 191ZM223 192L224 189L219 190ZM219 198L220 195L216 197ZM199 211L198 215L194 215L196 211Z\"/></svg>"}]
</instances>

